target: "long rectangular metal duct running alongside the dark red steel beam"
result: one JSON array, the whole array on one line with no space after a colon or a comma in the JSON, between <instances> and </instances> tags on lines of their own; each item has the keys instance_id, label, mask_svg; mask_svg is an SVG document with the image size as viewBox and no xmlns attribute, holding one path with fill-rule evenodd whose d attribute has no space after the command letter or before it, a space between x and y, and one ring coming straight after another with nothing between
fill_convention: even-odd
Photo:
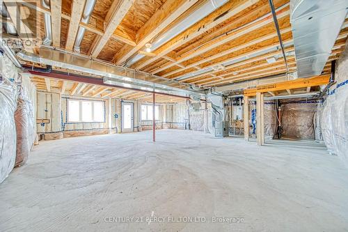
<instances>
[{"instance_id":1,"label":"long rectangular metal duct running alongside the dark red steel beam","mask_svg":"<svg viewBox=\"0 0 348 232\"><path fill-rule=\"evenodd\" d=\"M90 59L88 56L73 54L61 49L40 47L39 55L28 52L18 52L17 56L24 61L52 65L52 67L84 72L103 78L105 84L136 88L157 93L169 93L184 97L204 96L203 91L188 89L187 84L181 84L171 79L150 75L129 68L123 68L111 63Z\"/></svg>"}]
</instances>

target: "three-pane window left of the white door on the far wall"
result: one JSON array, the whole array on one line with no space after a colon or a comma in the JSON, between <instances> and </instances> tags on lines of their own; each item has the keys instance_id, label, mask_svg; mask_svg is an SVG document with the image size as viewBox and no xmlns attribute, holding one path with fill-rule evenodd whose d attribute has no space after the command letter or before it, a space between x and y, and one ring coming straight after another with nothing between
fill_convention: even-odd
<instances>
[{"instance_id":1,"label":"three-pane window left of the white door on the far wall","mask_svg":"<svg viewBox=\"0 0 348 232\"><path fill-rule=\"evenodd\" d=\"M69 123L104 123L105 102L91 100L68 100Z\"/></svg>"}]
</instances>

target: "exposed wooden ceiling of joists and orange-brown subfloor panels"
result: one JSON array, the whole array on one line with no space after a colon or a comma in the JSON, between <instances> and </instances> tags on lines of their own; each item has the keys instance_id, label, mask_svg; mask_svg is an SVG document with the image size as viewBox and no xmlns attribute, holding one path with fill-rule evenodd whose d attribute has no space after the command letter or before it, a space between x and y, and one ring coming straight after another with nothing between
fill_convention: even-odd
<instances>
[{"instance_id":1,"label":"exposed wooden ceiling of joists and orange-brown subfloor panels","mask_svg":"<svg viewBox=\"0 0 348 232\"><path fill-rule=\"evenodd\" d=\"M145 0L115 0L103 3L97 1L88 24L81 22L86 0L71 0L69 4L62 0L52 1L49 9L44 8L40 1L37 4L31 3L30 0L4 1L5 3L15 1L18 6L23 5L31 8L30 10L37 10L40 18L43 14L50 15L54 47L72 51L77 31L81 26L86 29L81 42L81 54L91 55L118 65L123 65L134 56L141 55L143 57L133 63L130 68L166 79L175 79L181 83L210 88L251 79L271 78L285 75L287 72L267 0L226 1L182 33L156 46L157 48L151 52L145 52L146 43L154 43L156 39L161 38L162 33L171 30L208 0L146 2ZM287 62L290 65L290 72L294 72L296 61L292 53L294 46L290 24L290 1L273 0L273 2L285 52L287 52ZM11 13L15 15L17 11L19 10L16 8L12 8L12 11L9 9L10 18L15 25L19 24L16 23L17 18L14 19ZM5 20L11 21L8 18ZM34 22L35 20L28 20L28 28L23 30L22 26L26 24L22 23L18 30L22 32L36 26L37 31L41 32L39 39L42 39L45 36L42 35L45 25L42 23L34 25ZM322 73L330 73L330 61L340 57L345 49L347 36L348 20L345 20ZM24 41L27 38L15 37L15 39ZM25 49L35 53L35 47L25 47ZM79 74L83 75L83 73ZM151 93L107 86L99 80L91 82L81 78L71 80L56 76L60 79L59 81L56 79L49 81L52 76L35 72L33 75L38 75L32 80L38 89L42 90L58 90L63 94L70 93L86 97L125 98L145 102L152 100ZM155 77L149 78L148 81L160 83ZM175 83L170 85L177 86ZM304 86L300 90L317 89L310 87ZM287 88L281 94L297 93L298 90ZM267 95L277 93L275 90L267 92L269 92ZM157 98L158 102L176 100L164 95L158 95Z\"/></svg>"}]
</instances>

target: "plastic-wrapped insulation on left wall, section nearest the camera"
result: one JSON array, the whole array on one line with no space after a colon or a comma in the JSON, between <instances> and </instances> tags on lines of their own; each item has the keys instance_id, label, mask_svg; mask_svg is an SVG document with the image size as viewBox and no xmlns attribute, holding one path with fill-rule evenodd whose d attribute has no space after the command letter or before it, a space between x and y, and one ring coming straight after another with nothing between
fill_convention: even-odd
<instances>
[{"instance_id":1,"label":"plastic-wrapped insulation on left wall, section nearest the camera","mask_svg":"<svg viewBox=\"0 0 348 232\"><path fill-rule=\"evenodd\" d=\"M6 56L0 56L0 183L5 180L15 166L17 107L17 79L13 63Z\"/></svg>"}]
</instances>

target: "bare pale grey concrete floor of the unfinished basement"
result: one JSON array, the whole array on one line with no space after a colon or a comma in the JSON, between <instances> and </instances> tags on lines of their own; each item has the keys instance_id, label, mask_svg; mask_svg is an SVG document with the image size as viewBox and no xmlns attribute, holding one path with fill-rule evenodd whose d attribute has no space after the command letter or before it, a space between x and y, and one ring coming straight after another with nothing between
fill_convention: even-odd
<instances>
[{"instance_id":1,"label":"bare pale grey concrete floor of the unfinished basement","mask_svg":"<svg viewBox=\"0 0 348 232\"><path fill-rule=\"evenodd\" d=\"M0 231L348 231L348 169L321 144L151 135L42 142L0 185Z\"/></svg>"}]
</instances>

